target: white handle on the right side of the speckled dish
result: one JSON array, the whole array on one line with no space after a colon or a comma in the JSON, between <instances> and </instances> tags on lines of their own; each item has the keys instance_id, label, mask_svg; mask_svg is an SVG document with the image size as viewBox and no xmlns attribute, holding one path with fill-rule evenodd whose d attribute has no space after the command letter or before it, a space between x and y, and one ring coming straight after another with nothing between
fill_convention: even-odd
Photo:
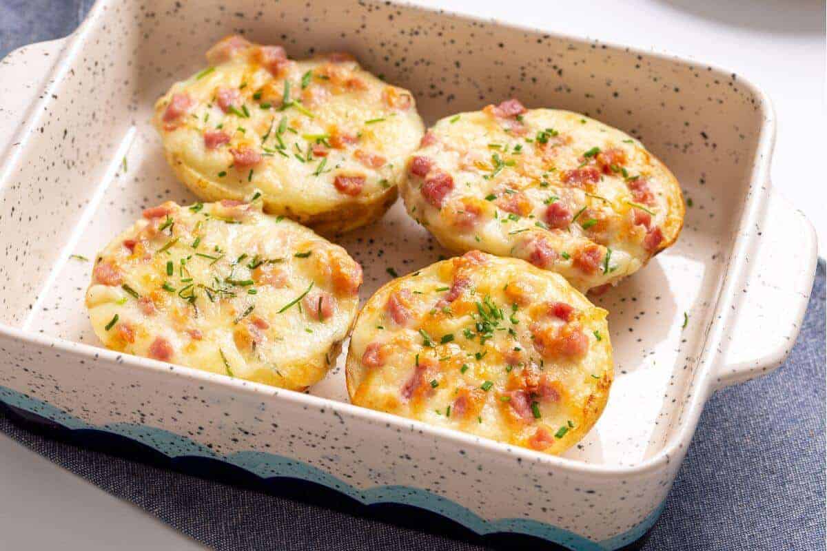
<instances>
[{"instance_id":1,"label":"white handle on the right side of the speckled dish","mask_svg":"<svg viewBox=\"0 0 827 551\"><path fill-rule=\"evenodd\" d=\"M725 322L714 389L778 368L801 328L818 261L815 229L801 211L771 191L752 229L753 246Z\"/></svg>"}]
</instances>

